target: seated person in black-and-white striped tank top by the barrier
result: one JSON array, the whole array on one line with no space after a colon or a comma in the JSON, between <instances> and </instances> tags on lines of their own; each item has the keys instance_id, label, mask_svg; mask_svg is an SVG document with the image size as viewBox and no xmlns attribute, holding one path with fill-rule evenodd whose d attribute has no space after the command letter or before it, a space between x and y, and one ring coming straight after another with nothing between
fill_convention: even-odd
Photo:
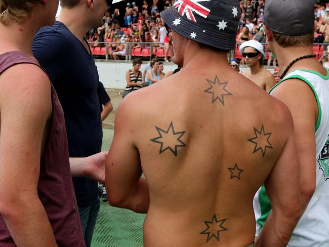
<instances>
[{"instance_id":1,"label":"seated person in black-and-white striped tank top by the barrier","mask_svg":"<svg viewBox=\"0 0 329 247\"><path fill-rule=\"evenodd\" d=\"M127 94L142 88L143 77L140 71L142 60L140 58L133 59L133 68L127 70L126 81L127 86L124 93L122 93L122 98L126 97Z\"/></svg>"}]
</instances>

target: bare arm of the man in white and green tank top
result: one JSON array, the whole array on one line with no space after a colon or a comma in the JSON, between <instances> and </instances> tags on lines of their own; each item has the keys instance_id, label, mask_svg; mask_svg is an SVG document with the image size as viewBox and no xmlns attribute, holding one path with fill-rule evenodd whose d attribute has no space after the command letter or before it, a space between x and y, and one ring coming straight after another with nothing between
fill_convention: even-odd
<instances>
[{"instance_id":1,"label":"bare arm of the man in white and green tank top","mask_svg":"<svg viewBox=\"0 0 329 247\"><path fill-rule=\"evenodd\" d=\"M318 114L316 98L312 89L300 79L284 81L273 92L294 118L294 132L300 160L302 213L310 201L316 184L315 125Z\"/></svg>"}]
</instances>

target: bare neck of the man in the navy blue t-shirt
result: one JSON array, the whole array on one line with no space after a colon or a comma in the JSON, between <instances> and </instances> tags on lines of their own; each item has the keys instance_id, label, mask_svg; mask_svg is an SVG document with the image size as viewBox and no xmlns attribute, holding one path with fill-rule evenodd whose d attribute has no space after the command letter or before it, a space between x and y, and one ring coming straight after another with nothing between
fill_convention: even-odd
<instances>
[{"instance_id":1,"label":"bare neck of the man in the navy blue t-shirt","mask_svg":"<svg viewBox=\"0 0 329 247\"><path fill-rule=\"evenodd\" d=\"M86 13L79 11L78 7L75 7L74 10L62 8L57 20L62 22L74 36L83 42L84 36L92 28L88 26L84 16Z\"/></svg>"}]
</instances>

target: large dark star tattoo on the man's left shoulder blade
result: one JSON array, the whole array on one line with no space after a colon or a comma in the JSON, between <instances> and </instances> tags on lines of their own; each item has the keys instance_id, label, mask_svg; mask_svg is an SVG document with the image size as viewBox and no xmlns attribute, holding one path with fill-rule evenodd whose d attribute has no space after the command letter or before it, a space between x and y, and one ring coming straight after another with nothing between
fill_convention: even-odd
<instances>
[{"instance_id":1,"label":"large dark star tattoo on the man's left shoulder blade","mask_svg":"<svg viewBox=\"0 0 329 247\"><path fill-rule=\"evenodd\" d=\"M186 147L186 144L181 140L181 137L186 131L175 132L173 122L167 131L155 126L158 137L151 139L150 141L161 144L159 154L170 150L177 157L177 148Z\"/></svg>"}]
</instances>

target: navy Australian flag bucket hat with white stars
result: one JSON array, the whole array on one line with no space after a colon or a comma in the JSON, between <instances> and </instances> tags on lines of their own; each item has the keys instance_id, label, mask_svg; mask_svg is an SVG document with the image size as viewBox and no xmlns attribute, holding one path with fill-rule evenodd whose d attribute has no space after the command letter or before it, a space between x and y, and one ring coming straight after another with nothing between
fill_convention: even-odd
<instances>
[{"instance_id":1,"label":"navy Australian flag bucket hat with white stars","mask_svg":"<svg viewBox=\"0 0 329 247\"><path fill-rule=\"evenodd\" d=\"M240 19L238 0L176 0L160 13L178 34L221 50L234 50Z\"/></svg>"}]
</instances>

